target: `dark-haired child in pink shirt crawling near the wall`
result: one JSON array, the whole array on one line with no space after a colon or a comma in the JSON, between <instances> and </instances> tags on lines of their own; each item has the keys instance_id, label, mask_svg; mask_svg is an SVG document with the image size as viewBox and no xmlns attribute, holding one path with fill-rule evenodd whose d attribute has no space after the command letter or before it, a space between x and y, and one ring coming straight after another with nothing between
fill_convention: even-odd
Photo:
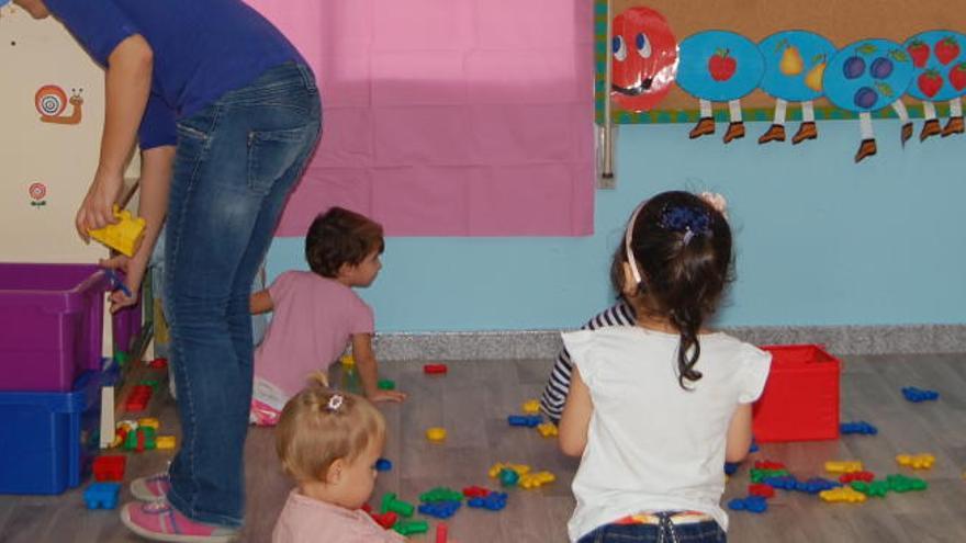
<instances>
[{"instance_id":1,"label":"dark-haired child in pink shirt crawling near the wall","mask_svg":"<svg viewBox=\"0 0 966 543\"><path fill-rule=\"evenodd\" d=\"M284 272L267 290L251 295L251 313L273 312L255 351L252 422L274 425L285 401L306 385L310 375L325 373L350 340L366 397L405 398L377 386L372 308L352 291L375 280L383 248L382 226L333 207L315 218L305 237L312 271Z\"/></svg>"}]
</instances>

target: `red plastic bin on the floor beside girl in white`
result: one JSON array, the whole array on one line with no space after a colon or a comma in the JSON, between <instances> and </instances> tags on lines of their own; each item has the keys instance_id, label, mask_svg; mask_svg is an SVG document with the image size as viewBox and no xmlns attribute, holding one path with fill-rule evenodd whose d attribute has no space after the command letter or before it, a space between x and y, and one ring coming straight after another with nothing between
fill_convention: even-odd
<instances>
[{"instance_id":1,"label":"red plastic bin on the floor beside girl in white","mask_svg":"<svg viewBox=\"0 0 966 543\"><path fill-rule=\"evenodd\" d=\"M755 440L818 441L839 438L842 364L820 346L764 346L772 371L754 404Z\"/></svg>"}]
</instances>

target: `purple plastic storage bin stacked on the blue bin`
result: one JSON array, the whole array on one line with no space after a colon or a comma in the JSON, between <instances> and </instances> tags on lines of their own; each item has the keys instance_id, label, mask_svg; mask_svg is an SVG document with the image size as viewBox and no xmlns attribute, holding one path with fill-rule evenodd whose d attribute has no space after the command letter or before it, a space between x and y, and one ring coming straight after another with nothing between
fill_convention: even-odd
<instances>
[{"instance_id":1,"label":"purple plastic storage bin stacked on the blue bin","mask_svg":"<svg viewBox=\"0 0 966 543\"><path fill-rule=\"evenodd\" d=\"M97 265L0 263L0 391L67 392L100 370L109 286Z\"/></svg>"}]
</instances>

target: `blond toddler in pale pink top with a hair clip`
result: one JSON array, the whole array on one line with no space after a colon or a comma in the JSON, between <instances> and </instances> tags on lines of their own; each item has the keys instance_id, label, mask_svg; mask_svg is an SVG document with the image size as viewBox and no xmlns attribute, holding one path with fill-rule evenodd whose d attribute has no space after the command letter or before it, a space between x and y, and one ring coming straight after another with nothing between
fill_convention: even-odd
<instances>
[{"instance_id":1,"label":"blond toddler in pale pink top with a hair clip","mask_svg":"<svg viewBox=\"0 0 966 543\"><path fill-rule=\"evenodd\" d=\"M276 450L295 479L272 543L402 543L359 509L375 486L385 420L366 398L311 386L285 405Z\"/></svg>"}]
</instances>

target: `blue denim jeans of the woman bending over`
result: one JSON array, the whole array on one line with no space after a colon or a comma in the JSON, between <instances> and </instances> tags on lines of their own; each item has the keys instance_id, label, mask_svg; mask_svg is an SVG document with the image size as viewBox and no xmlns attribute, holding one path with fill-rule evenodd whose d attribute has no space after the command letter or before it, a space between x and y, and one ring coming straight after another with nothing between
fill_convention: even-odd
<instances>
[{"instance_id":1,"label":"blue denim jeans of the woman bending over","mask_svg":"<svg viewBox=\"0 0 966 543\"><path fill-rule=\"evenodd\" d=\"M315 79L292 63L178 123L164 282L182 437L168 500L196 521L244 519L251 281L321 129Z\"/></svg>"}]
</instances>

